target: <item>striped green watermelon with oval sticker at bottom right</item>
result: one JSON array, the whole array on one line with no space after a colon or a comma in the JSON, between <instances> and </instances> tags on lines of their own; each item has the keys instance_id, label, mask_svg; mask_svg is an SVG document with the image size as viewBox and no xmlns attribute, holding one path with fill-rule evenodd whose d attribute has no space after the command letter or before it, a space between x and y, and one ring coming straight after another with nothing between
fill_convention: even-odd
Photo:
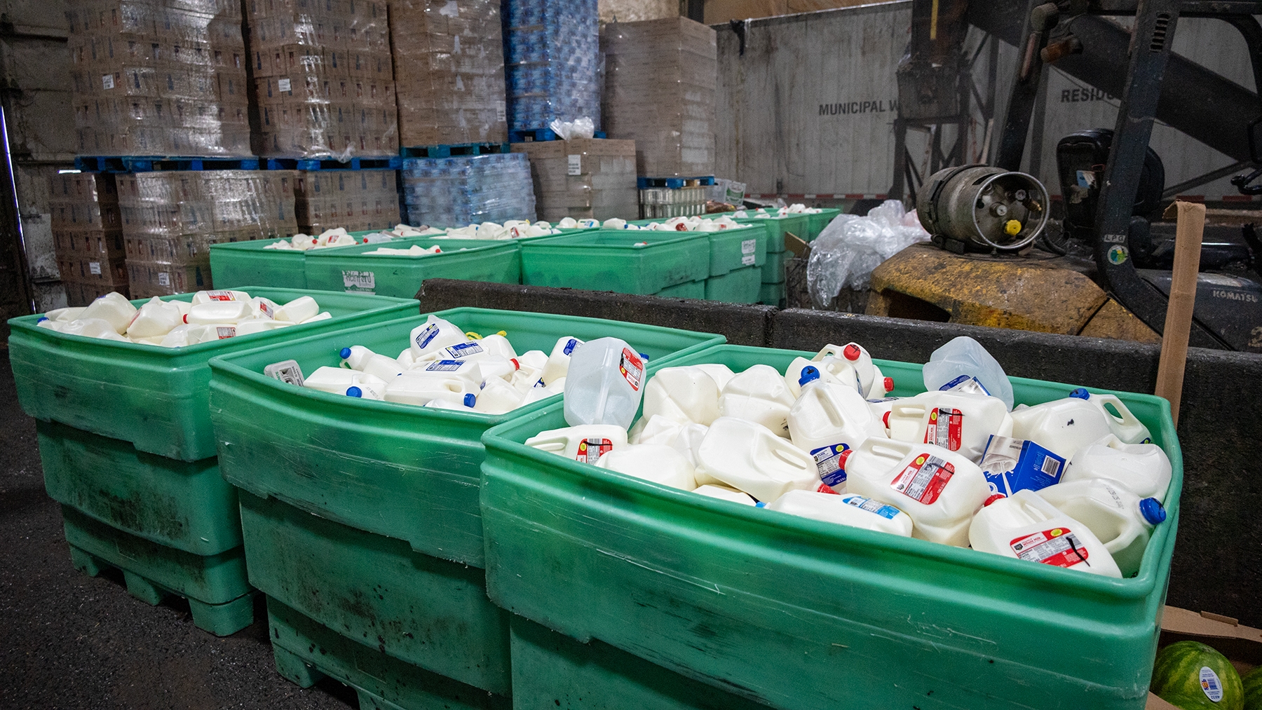
<instances>
[{"instance_id":1,"label":"striped green watermelon with oval sticker at bottom right","mask_svg":"<svg viewBox=\"0 0 1262 710\"><path fill-rule=\"evenodd\" d=\"M1157 653L1148 690L1182 710L1244 710L1244 687L1232 662L1195 641Z\"/></svg>"}]
</instances>

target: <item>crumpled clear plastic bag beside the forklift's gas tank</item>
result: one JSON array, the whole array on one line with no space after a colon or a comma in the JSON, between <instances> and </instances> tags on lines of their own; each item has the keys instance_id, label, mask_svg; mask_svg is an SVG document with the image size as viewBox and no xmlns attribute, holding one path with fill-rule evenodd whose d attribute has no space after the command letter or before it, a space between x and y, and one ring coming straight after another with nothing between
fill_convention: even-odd
<instances>
[{"instance_id":1,"label":"crumpled clear plastic bag beside the forklift's gas tank","mask_svg":"<svg viewBox=\"0 0 1262 710\"><path fill-rule=\"evenodd\" d=\"M867 217L838 214L810 245L806 290L817 308L828 308L846 288L862 290L882 261L917 242L929 241L916 211L887 199Z\"/></svg>"}]
</instances>

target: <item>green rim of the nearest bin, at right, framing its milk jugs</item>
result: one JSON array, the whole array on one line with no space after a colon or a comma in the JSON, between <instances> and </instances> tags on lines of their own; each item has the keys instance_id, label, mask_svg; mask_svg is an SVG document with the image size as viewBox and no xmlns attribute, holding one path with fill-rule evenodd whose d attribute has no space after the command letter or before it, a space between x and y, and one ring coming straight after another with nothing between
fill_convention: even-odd
<instances>
[{"instance_id":1,"label":"green rim of the nearest bin, at right, framing its milk jugs","mask_svg":"<svg viewBox=\"0 0 1262 710\"><path fill-rule=\"evenodd\" d=\"M693 358L705 357L711 354L717 354L722 352L743 352L748 354L758 354L766 352L775 352L779 354L789 356L801 356L805 358L814 357L817 353L809 351L786 351L776 348L760 348L753 346L736 346L736 344L717 344L712 348L707 348L702 352L692 353ZM916 363L906 363L900 361L887 361L872 358L872 362L877 367L886 364L890 366L914 366L923 367ZM649 366L649 376L651 377L658 370L663 367L674 367L671 362L664 362L658 366ZM683 364L680 364L683 366ZM1032 380L1029 377L1008 377L1008 380L1017 385L1037 385L1037 386L1053 386L1053 387L1066 387L1060 382L1051 382L1047 380ZM649 378L645 378L645 385L647 385ZM923 386L921 391L923 390ZM1068 387L1073 390L1074 387ZM594 464L581 464L574 460L565 459L564 457L558 457L554 453L541 451L533 446L526 446L525 444L519 444L501 435L502 431L507 429L520 430L530 426L530 422L551 416L557 411L564 407L564 402L551 402L544 407L539 407L529 414L516 417L512 421L504 422L492 429L488 429L482 435L482 444L487 450L496 449L512 454L514 457L524 457L526 459L534 460L536 463L544 464L545 467L560 468L577 474L579 477L593 478L601 480L612 487L636 487L639 493L645 496L658 498L666 503L676 504L690 504L700 506L703 509L708 509L713 513L727 513L734 516L748 525L755 526L772 526L775 531L793 531L804 537L810 537L817 541L833 541L839 546L846 545L861 545L861 546L873 546L883 547L895 552L900 552L912 557L925 557L933 559L939 562L948 562L967 567L978 569L982 571L1005 574L1011 576L1023 578L1031 583L1059 585L1061 588L1073 588L1084 593L1090 593L1095 595L1112 597L1117 599L1142 599L1151 594L1162 575L1159 571L1159 562L1155 562L1156 550L1161 549L1166 551L1174 546L1176 525L1179 521L1179 498L1182 492L1182 453L1179 448L1177 434L1175 433L1174 421L1170 415L1170 402L1162 397L1155 395L1142 395L1136 392L1121 392L1116 390L1102 390L1095 387L1087 387L1088 391L1100 395L1118 395L1124 400L1140 400L1148 401L1157 405L1161 414L1161 436L1165 445L1162 450L1170 457L1170 465L1174 475L1170 480L1170 489L1166 493L1166 501L1170 506L1166 507L1167 518L1165 522L1159 525L1153 532L1152 537L1148 540L1148 546L1143 552L1143 562L1140 567L1140 573L1135 578L1108 578L1103 575L1087 574L1076 570L1066 570L1060 567L1054 567L1050 565L1034 565L1025 560L1016 560L1003 555L992 555L987 552L978 552L970 547L954 547L952 545L941 545L938 542L930 542L928 540L917 540L914 537L902 537L899 535L891 535L872 530L864 530L846 525L829 523L824 521L817 521L811 518L805 518L801 516L795 516L790 513L780 513L779 511L767 511L762 508L755 508L751 506L743 506L741 503L734 503L731 501L721 501L718 498L711 498L709 496L699 496L692 491L681 491L670 486L664 486L661 483L652 483L642 478L636 478L625 473L618 473L603 468L598 468ZM1066 391L1068 396L1068 391ZM485 475L485 474L483 474ZM770 520L766 513L779 513L779 516L772 516Z\"/></svg>"}]
</instances>

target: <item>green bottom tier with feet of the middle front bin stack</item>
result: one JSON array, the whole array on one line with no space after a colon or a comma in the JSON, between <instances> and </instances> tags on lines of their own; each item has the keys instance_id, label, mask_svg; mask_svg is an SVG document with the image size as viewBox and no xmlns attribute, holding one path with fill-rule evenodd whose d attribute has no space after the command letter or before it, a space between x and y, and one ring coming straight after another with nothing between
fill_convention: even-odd
<instances>
[{"instance_id":1,"label":"green bottom tier with feet of the middle front bin stack","mask_svg":"<svg viewBox=\"0 0 1262 710\"><path fill-rule=\"evenodd\" d=\"M399 661L268 599L276 672L310 687L328 676L355 689L360 710L510 710L511 700Z\"/></svg>"}]
</instances>

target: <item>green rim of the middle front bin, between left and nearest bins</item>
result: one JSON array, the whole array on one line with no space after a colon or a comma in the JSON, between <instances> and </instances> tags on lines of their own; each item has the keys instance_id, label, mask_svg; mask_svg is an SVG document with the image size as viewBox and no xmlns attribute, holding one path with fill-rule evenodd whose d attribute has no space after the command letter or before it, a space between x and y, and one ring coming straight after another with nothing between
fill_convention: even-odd
<instances>
[{"instance_id":1,"label":"green rim of the middle front bin, between left and nearest bins","mask_svg":"<svg viewBox=\"0 0 1262 710\"><path fill-rule=\"evenodd\" d=\"M372 324L367 324L367 325L358 325L358 327L355 327L355 328L347 328L345 330L338 330L336 333L322 333L322 334L316 334L316 335L308 335L305 338L297 339L297 340L285 340L284 343L269 343L269 344L265 344L265 346L260 346L257 348L250 348L247 351L239 351L239 352L233 352L233 353L227 353L227 354L217 356L217 357L211 358L211 361L209 361L211 372L213 373L213 372L217 372L217 371L222 371L225 373L231 373L231 375L233 375L236 377L241 377L244 380L254 382L255 385L262 386L262 387L265 387L268 390L278 390L278 391L283 390L284 392L290 393L290 395L297 395L297 396L300 396L300 397L312 397L317 402L331 402L331 404L336 404L336 405L367 407L370 411L377 410L377 411L384 411L384 412L394 411L394 412L419 414L420 411L424 411L424 412L427 412L427 416L437 416L440 420L482 421L482 422L487 422L488 425L492 425L492 426L496 425L496 424L506 422L506 421L512 420L512 419L517 419L517 417L520 417L521 415L524 415L526 412L535 411L535 410L540 409L541 406L553 402L557 397L562 396L562 395L551 395L549 397L539 400L538 402L531 402L529 405L517 407L515 410L506 411L504 414L483 414L483 412L480 412L480 411L468 411L468 412L466 412L466 411L461 411L461 410L445 410L445 409L437 409L437 407L423 407L423 406L409 405L409 404L404 404L404 402L387 402L385 400L366 400L366 399L360 399L360 397L347 397L346 395L334 395L332 392L322 392L319 390L310 390L310 388L307 388L307 387L297 387L295 388L293 385L289 385L286 382L281 382L281 381L279 381L279 380L276 380L274 377L268 377L266 375L262 375L261 372L255 372L255 371L252 371L252 370L250 370L250 368L247 368L245 366L241 366L241 364L237 364L236 362L233 362L237 358L254 357L254 356L261 354L261 353L264 353L264 352L266 352L269 349L290 348L290 347L294 347L294 346L298 346L298 344L305 344L305 343L310 343L310 342L319 340L319 339L328 339L329 337L333 337L333 335L337 335L339 338L345 338L347 334L352 334L356 330L361 330L361 329L366 329L366 328L371 328L371 329L389 328L391 325L398 325L398 324L400 324L403 322L416 323L419 320L420 323L423 323L424 322L423 319L425 319L429 315L437 315L437 317L443 318L443 319L451 319L451 318L458 318L461 314L466 314L466 313L485 313L485 314L492 314L492 313L516 313L516 314L522 314L522 315L546 315L549 318L560 319L560 320L568 320L568 322L575 322L575 320L584 320L584 322L586 320L604 320L604 319L601 319L601 318L586 318L586 317L581 317L581 315L560 315L560 314L551 314L551 313L538 313L536 314L536 313L533 313L533 311L519 311L519 310L504 311L504 310L493 309L493 308L473 308L473 306L449 308L447 310L422 313L419 315L408 315L405 318L396 318L394 320L384 320L381 323L372 323ZM639 328L651 329L651 330L660 330L660 329L663 329L661 325L647 325L647 324L644 324L644 323L625 323L625 322L618 322L618 323L621 323L622 325L639 327ZM670 361L674 361L678 357L697 354L697 353L704 352L704 351L707 351L707 349L709 349L709 348L719 344L721 342L726 342L726 338L723 335L714 334L714 333L700 333L700 332L697 332L697 330L681 330L679 328L671 328L670 330L674 330L676 333L687 333L687 334L697 335L700 339L700 342L697 343L697 344L694 344L694 346L689 346L689 347L687 347L687 348L684 348L681 351L676 351L676 352L674 352L674 353L671 353L669 356L660 357L660 358L658 358L658 362L663 362L663 363L668 363L669 364ZM386 357L389 357L389 356L386 356ZM560 402L558 401L558 404L560 404Z\"/></svg>"}]
</instances>

